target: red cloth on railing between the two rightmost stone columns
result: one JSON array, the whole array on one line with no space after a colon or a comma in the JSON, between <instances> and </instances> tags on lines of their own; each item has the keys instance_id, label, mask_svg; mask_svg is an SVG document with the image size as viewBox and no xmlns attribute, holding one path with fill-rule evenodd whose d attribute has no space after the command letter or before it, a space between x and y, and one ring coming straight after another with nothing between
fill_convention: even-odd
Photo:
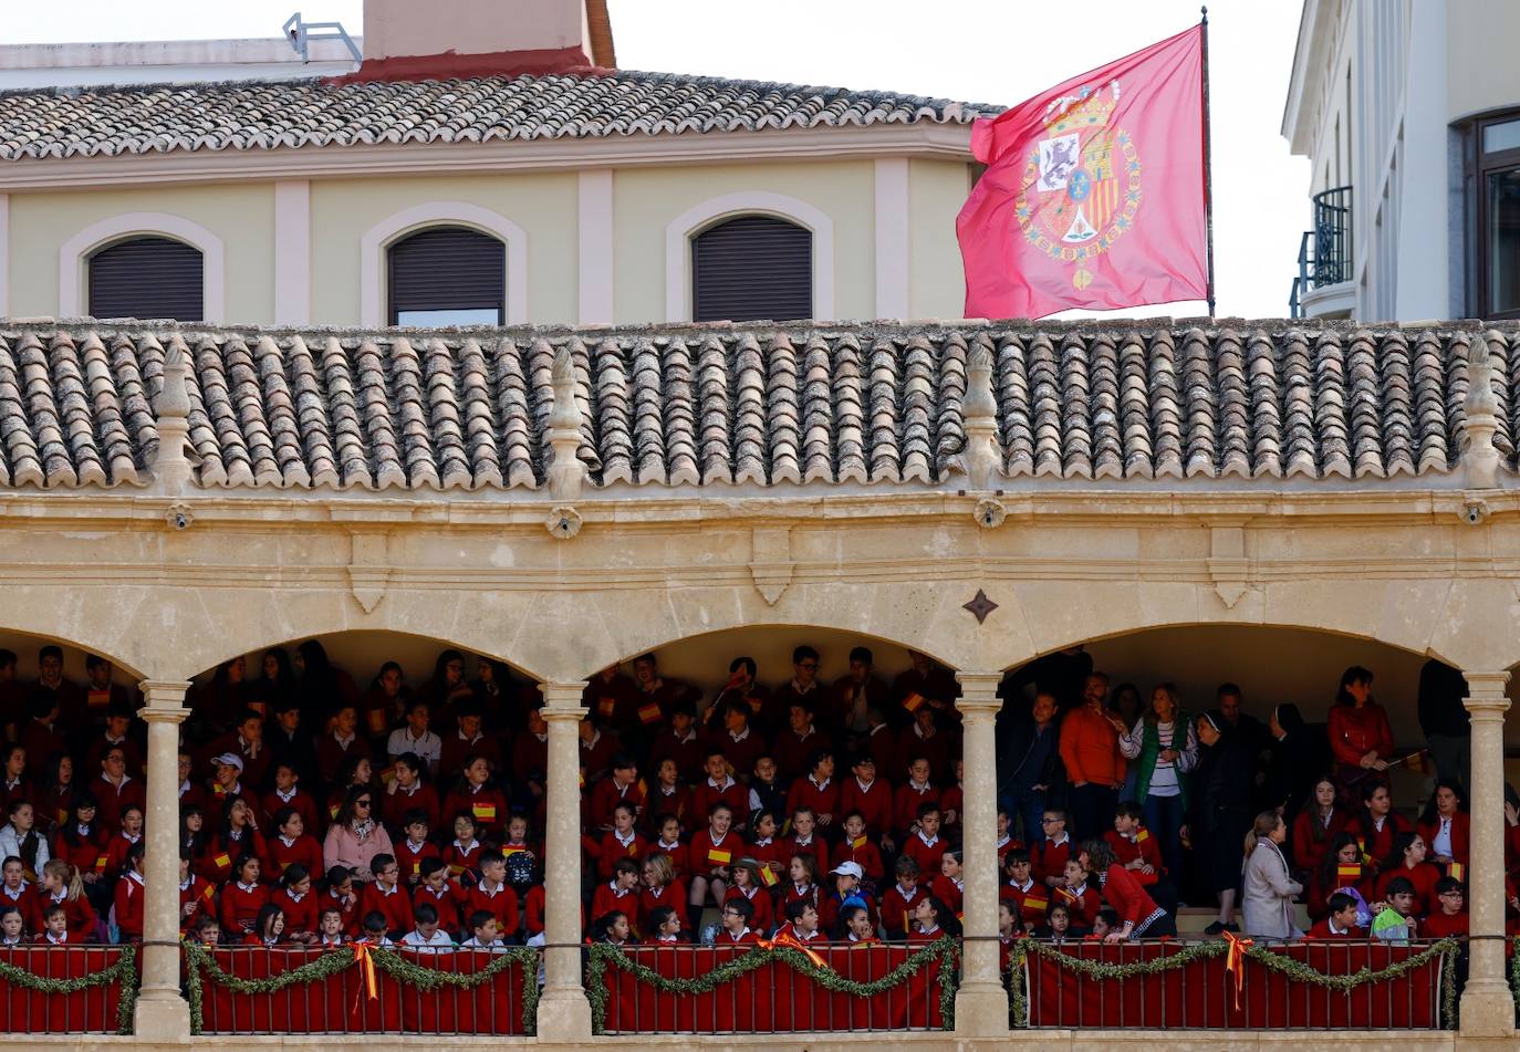
<instances>
[{"instance_id":1,"label":"red cloth on railing between the two rightmost stone columns","mask_svg":"<svg viewBox=\"0 0 1520 1052\"><path fill-rule=\"evenodd\" d=\"M1081 943L1062 952L1087 961L1132 964L1183 952L1175 943L1107 946ZM1377 971L1423 947L1376 943L1310 943L1274 947L1272 952L1307 964L1321 974L1351 974L1362 967ZM1297 982L1245 959L1240 1008L1234 1006L1234 979L1225 956L1195 961L1126 982L1078 976L1043 955L1029 955L1029 1025L1052 1028L1228 1028L1228 1029L1432 1029L1439 1025L1441 961L1342 994Z\"/></svg>"}]
</instances>

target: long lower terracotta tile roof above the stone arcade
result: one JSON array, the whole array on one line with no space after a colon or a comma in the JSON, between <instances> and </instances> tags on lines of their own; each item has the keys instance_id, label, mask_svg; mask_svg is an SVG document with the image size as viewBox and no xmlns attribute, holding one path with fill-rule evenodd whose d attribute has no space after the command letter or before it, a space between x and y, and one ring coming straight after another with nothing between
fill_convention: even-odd
<instances>
[{"instance_id":1,"label":"long lower terracotta tile roof above the stone arcade","mask_svg":"<svg viewBox=\"0 0 1520 1052\"><path fill-rule=\"evenodd\" d=\"M1412 479L1456 465L1477 341L1493 362L1496 445L1515 465L1517 339L1514 325L1287 322L596 333L9 322L0 485L146 485L152 398L166 356L184 353L204 488L538 490L561 350L582 412L579 458L600 486L953 485L974 354L993 362L1011 482Z\"/></svg>"}]
</instances>

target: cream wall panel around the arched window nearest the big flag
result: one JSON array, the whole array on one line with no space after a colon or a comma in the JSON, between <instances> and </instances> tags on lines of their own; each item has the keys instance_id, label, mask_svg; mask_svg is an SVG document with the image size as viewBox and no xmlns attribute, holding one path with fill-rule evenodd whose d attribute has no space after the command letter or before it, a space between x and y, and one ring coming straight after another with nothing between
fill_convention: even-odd
<instances>
[{"instance_id":1,"label":"cream wall panel around the arched window nearest the big flag","mask_svg":"<svg viewBox=\"0 0 1520 1052\"><path fill-rule=\"evenodd\" d=\"M666 227L704 201L745 190L796 198L828 214L834 223L834 315L876 316L874 179L871 161L617 172L613 185L616 321L666 319Z\"/></svg>"}]
</instances>

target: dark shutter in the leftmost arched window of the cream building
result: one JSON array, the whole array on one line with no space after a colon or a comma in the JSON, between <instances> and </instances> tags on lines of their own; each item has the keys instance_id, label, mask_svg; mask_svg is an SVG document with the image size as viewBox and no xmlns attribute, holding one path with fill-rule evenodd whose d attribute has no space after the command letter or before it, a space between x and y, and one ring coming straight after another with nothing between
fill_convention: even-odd
<instances>
[{"instance_id":1,"label":"dark shutter in the leftmost arched window of the cream building","mask_svg":"<svg viewBox=\"0 0 1520 1052\"><path fill-rule=\"evenodd\" d=\"M94 318L205 321L201 249L167 237L134 237L90 257Z\"/></svg>"}]
</instances>

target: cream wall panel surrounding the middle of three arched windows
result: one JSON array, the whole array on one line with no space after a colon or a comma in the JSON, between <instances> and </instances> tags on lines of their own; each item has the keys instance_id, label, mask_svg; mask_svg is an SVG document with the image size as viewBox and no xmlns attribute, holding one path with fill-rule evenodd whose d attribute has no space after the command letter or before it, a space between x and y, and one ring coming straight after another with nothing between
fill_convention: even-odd
<instances>
[{"instance_id":1,"label":"cream wall panel surrounding the middle of three arched windows","mask_svg":"<svg viewBox=\"0 0 1520 1052\"><path fill-rule=\"evenodd\" d=\"M410 176L312 184L312 321L360 324L360 242L375 223L435 201L489 208L527 233L527 321L576 316L576 176Z\"/></svg>"}]
</instances>

